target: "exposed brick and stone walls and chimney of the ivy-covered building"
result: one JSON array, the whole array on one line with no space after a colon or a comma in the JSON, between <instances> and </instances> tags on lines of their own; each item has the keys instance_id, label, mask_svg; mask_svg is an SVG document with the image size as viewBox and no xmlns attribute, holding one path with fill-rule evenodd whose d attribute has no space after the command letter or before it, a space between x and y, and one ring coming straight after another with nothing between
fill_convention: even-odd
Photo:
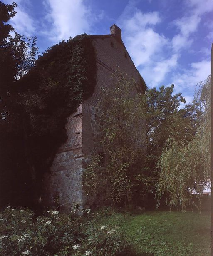
<instances>
[{"instance_id":1,"label":"exposed brick and stone walls and chimney of the ivy-covered building","mask_svg":"<svg viewBox=\"0 0 213 256\"><path fill-rule=\"evenodd\" d=\"M82 102L68 118L67 142L59 148L51 171L45 177L44 197L47 204L56 201L60 205L69 206L87 204L82 172L94 147L98 150L96 142L99 139L102 115L102 111L97 108L100 88L111 86L111 75L116 70L132 76L138 82L144 81L121 40L120 28L114 24L110 27L110 32L110 35L90 35L97 57L97 84L92 96Z\"/></svg>"}]
</instances>

